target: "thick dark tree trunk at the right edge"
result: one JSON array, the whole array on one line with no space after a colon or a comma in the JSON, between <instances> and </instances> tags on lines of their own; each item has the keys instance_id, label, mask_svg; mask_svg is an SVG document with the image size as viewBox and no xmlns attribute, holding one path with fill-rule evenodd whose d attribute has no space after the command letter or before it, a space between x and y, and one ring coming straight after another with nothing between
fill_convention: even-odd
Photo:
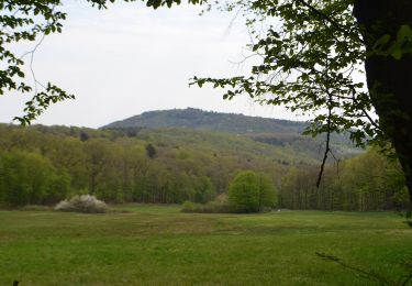
<instances>
[{"instance_id":1,"label":"thick dark tree trunk at the right edge","mask_svg":"<svg viewBox=\"0 0 412 286\"><path fill-rule=\"evenodd\" d=\"M354 14L367 51L401 25L412 28L412 0L355 0ZM365 62L368 89L380 124L392 142L407 178L412 204L412 55L401 59L370 56Z\"/></svg>"}]
</instances>

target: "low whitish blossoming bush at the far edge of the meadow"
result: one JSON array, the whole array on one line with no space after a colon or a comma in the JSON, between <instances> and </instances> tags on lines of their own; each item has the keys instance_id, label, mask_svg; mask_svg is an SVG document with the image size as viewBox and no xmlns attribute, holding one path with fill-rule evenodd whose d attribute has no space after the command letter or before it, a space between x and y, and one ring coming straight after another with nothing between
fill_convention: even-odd
<instances>
[{"instance_id":1,"label":"low whitish blossoming bush at the far edge of the meadow","mask_svg":"<svg viewBox=\"0 0 412 286\"><path fill-rule=\"evenodd\" d=\"M109 209L104 201L97 199L94 196L81 195L75 196L70 200L62 200L57 204L55 210L102 213Z\"/></svg>"}]
</instances>

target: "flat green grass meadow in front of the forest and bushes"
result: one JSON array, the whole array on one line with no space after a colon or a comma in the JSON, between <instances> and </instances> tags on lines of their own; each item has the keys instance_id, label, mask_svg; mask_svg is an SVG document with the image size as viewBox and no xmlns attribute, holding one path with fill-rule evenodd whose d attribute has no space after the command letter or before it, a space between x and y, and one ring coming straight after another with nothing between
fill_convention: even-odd
<instances>
[{"instance_id":1,"label":"flat green grass meadow in front of the forest and bushes","mask_svg":"<svg viewBox=\"0 0 412 286\"><path fill-rule=\"evenodd\" d=\"M375 285L315 252L393 279L412 261L412 229L390 212L120 209L0 211L0 285Z\"/></svg>"}]
</instances>

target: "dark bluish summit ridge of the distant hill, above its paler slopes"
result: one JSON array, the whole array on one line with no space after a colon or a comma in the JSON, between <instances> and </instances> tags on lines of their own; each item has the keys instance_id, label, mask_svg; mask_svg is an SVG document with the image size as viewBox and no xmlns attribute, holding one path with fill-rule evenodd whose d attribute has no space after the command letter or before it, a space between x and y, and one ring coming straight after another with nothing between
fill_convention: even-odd
<instances>
[{"instance_id":1,"label":"dark bluish summit ridge of the distant hill, above its paler slopes","mask_svg":"<svg viewBox=\"0 0 412 286\"><path fill-rule=\"evenodd\" d=\"M110 123L103 129L118 128L188 128L212 130L236 134L301 133L307 123L288 120L246 117L243 114L218 113L200 109L174 109L149 111Z\"/></svg>"}]
</instances>

